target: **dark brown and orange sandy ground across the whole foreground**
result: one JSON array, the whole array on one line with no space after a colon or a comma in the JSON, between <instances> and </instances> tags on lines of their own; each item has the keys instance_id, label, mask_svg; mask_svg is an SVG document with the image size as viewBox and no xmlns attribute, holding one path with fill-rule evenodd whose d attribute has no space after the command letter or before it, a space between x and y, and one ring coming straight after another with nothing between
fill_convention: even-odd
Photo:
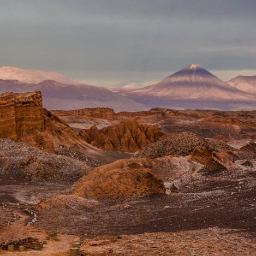
<instances>
[{"instance_id":1,"label":"dark brown and orange sandy ground across the whole foreground","mask_svg":"<svg viewBox=\"0 0 256 256\"><path fill-rule=\"evenodd\" d=\"M92 209L39 213L23 209L66 184L41 184L1 177L0 243L57 231L42 251L1 251L0 255L68 256L72 242L85 239L81 255L256 255L255 169L188 177L175 193L130 201L98 203ZM6 205L6 206L5 206ZM19 217L17 217L19 216ZM10 221L6 227L6 222Z\"/></svg>"}]
</instances>

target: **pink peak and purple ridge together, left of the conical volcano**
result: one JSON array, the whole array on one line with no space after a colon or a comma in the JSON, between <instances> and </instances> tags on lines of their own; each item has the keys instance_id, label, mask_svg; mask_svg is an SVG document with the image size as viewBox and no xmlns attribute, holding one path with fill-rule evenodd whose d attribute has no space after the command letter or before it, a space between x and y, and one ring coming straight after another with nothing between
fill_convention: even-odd
<instances>
[{"instance_id":1,"label":"pink peak and purple ridge together, left of the conical volcano","mask_svg":"<svg viewBox=\"0 0 256 256\"><path fill-rule=\"evenodd\" d=\"M3 70L8 70L8 72L4 73ZM16 70L19 70L19 75L15 75ZM104 106L116 111L148 109L147 106L136 103L133 99L121 94L116 94L105 87L81 84L58 73L40 73L37 70L22 72L22 70L10 67L0 68L0 93L40 91L46 109L71 110ZM53 74L52 77L51 74Z\"/></svg>"}]
</instances>

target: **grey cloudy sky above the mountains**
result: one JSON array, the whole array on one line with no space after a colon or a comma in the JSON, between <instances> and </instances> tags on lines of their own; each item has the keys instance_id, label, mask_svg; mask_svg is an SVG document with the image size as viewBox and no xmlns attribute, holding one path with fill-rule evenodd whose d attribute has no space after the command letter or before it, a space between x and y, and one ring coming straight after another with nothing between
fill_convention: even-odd
<instances>
[{"instance_id":1,"label":"grey cloudy sky above the mountains","mask_svg":"<svg viewBox=\"0 0 256 256\"><path fill-rule=\"evenodd\" d=\"M196 63L256 75L255 0L0 0L0 66L151 85Z\"/></svg>"}]
</instances>

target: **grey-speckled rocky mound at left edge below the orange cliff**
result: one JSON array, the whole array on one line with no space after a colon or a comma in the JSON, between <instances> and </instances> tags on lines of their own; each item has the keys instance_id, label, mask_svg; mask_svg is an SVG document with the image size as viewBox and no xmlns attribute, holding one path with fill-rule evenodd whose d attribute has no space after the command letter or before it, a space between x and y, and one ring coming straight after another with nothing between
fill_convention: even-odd
<instances>
[{"instance_id":1,"label":"grey-speckled rocky mound at left edge below the orange cliff","mask_svg":"<svg viewBox=\"0 0 256 256\"><path fill-rule=\"evenodd\" d=\"M33 181L76 181L91 167L77 159L57 156L25 143L0 140L0 174Z\"/></svg>"}]
</instances>

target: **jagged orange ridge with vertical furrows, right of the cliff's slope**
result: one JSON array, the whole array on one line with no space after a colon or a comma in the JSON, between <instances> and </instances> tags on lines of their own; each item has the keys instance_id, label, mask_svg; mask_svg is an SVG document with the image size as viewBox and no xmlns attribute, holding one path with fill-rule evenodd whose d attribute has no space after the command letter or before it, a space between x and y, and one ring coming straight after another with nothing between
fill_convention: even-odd
<instances>
[{"instance_id":1,"label":"jagged orange ridge with vertical furrows, right of the cliff's slope","mask_svg":"<svg viewBox=\"0 0 256 256\"><path fill-rule=\"evenodd\" d=\"M80 131L80 136L93 146L108 151L136 152L160 140L164 133L157 126L121 121L116 126L98 129L95 125Z\"/></svg>"}]
</instances>

